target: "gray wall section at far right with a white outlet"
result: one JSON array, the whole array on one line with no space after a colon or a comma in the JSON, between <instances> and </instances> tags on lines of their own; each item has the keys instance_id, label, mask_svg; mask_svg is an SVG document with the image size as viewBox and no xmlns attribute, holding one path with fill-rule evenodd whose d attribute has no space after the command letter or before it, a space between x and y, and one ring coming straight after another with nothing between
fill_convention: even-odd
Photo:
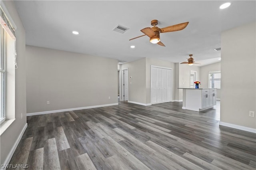
<instances>
[{"instance_id":1,"label":"gray wall section at far right with a white outlet","mask_svg":"<svg viewBox=\"0 0 256 170\"><path fill-rule=\"evenodd\" d=\"M221 34L220 121L256 128L256 24Z\"/></svg>"}]
</instances>

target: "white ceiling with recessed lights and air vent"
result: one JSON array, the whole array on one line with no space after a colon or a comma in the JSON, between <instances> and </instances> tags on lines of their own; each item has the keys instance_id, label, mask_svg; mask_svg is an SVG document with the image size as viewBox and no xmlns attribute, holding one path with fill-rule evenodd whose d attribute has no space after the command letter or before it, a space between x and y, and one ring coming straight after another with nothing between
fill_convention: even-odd
<instances>
[{"instance_id":1,"label":"white ceiling with recessed lights and air vent","mask_svg":"<svg viewBox=\"0 0 256 170\"><path fill-rule=\"evenodd\" d=\"M229 8L219 6L231 2ZM256 21L256 1L15 1L26 30L26 44L124 61L152 57L187 61L193 54L205 65L218 62L221 32ZM158 20L158 27L189 22L178 32L160 34L162 47L149 42L140 30ZM118 25L130 28L114 32ZM72 34L76 30L79 35ZM135 48L130 48L135 45Z\"/></svg>"}]
</instances>

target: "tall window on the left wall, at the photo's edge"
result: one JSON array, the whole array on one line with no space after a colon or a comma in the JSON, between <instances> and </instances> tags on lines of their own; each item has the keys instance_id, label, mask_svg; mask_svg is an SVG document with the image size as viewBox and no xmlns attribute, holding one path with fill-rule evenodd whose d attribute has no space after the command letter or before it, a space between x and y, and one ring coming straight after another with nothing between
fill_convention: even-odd
<instances>
[{"instance_id":1,"label":"tall window on the left wall, at the photo's edge","mask_svg":"<svg viewBox=\"0 0 256 170\"><path fill-rule=\"evenodd\" d=\"M0 25L1 29L1 61L0 61L0 123L5 121L5 77L6 77L6 70L5 70L5 61L6 61L6 55L5 55L5 30L2 28L2 25Z\"/></svg>"}]
</instances>

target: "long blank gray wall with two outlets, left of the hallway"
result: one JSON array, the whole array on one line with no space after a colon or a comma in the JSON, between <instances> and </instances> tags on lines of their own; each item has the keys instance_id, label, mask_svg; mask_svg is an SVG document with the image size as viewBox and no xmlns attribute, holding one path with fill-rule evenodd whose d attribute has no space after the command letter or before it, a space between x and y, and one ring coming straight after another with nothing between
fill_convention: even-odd
<instances>
[{"instance_id":1,"label":"long blank gray wall with two outlets, left of the hallway","mask_svg":"<svg viewBox=\"0 0 256 170\"><path fill-rule=\"evenodd\" d=\"M27 113L118 103L116 59L29 45L26 57Z\"/></svg>"}]
</instances>

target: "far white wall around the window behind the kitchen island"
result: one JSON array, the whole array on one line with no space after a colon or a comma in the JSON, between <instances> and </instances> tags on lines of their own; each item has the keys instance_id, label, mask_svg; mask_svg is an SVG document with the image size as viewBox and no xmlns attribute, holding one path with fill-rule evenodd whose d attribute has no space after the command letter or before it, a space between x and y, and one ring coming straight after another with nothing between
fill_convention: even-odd
<instances>
[{"instance_id":1,"label":"far white wall around the window behind the kitchen island","mask_svg":"<svg viewBox=\"0 0 256 170\"><path fill-rule=\"evenodd\" d=\"M201 84L202 88L209 87L209 72L210 71L220 71L220 62L200 67L200 81L206 82L206 83ZM221 93L220 89L217 89L217 99L220 99L220 93Z\"/></svg>"}]
</instances>

